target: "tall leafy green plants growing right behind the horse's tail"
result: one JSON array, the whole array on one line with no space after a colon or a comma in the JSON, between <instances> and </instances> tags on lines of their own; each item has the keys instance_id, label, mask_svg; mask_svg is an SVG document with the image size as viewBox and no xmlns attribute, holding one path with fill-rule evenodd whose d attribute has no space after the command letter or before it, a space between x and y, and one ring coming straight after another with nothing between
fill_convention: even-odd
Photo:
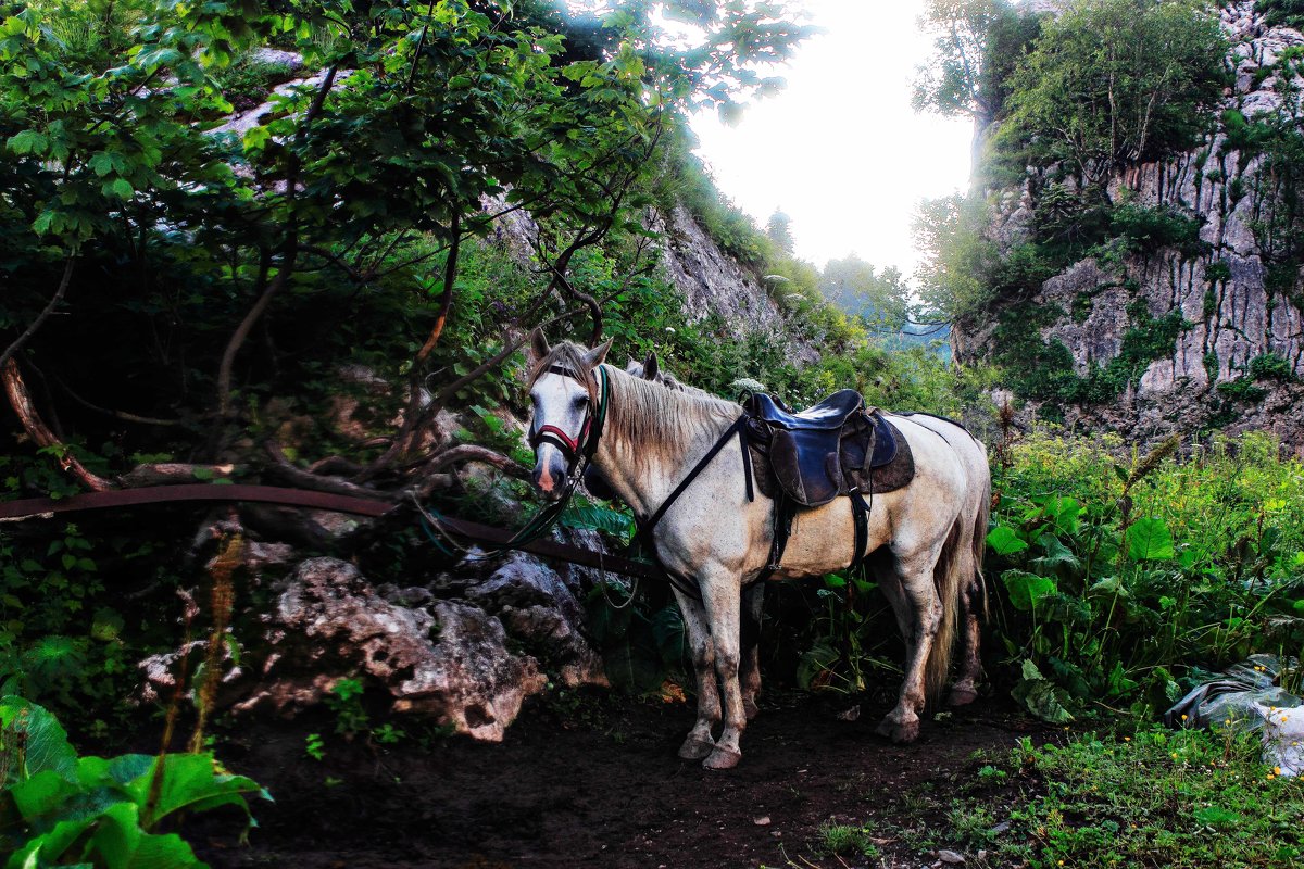
<instances>
[{"instance_id":1,"label":"tall leafy green plants growing right behind the horse's tail","mask_svg":"<svg viewBox=\"0 0 1304 869\"><path fill-rule=\"evenodd\" d=\"M1159 709L1192 667L1304 645L1304 468L1264 435L1174 446L1120 463L1111 438L1033 435L998 468L998 634L1045 718Z\"/></svg>"}]
</instances>

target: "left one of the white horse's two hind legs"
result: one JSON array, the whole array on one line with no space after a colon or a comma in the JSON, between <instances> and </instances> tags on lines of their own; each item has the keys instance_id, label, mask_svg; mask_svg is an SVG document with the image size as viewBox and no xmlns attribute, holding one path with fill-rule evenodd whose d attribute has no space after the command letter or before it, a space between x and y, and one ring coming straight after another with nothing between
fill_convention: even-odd
<instances>
[{"instance_id":1,"label":"left one of the white horse's two hind legs","mask_svg":"<svg viewBox=\"0 0 1304 869\"><path fill-rule=\"evenodd\" d=\"M905 610L909 611L909 633L906 634L906 670L901 683L901 694L896 707L879 723L878 732L895 743L910 743L919 736L919 713L925 705L925 672L928 655L932 654L932 641L941 624L941 601L932 581L932 568L938 562L938 550L910 558L898 558L896 578L900 582ZM902 610L897 610L902 628L906 627Z\"/></svg>"}]
</instances>

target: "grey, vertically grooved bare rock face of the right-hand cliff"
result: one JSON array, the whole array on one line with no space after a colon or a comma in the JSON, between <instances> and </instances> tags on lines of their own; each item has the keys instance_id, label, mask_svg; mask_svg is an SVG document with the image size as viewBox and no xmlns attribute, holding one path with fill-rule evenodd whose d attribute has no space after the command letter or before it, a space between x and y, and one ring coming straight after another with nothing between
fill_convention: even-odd
<instances>
[{"instance_id":1,"label":"grey, vertically grooved bare rock face of the right-hand cliff","mask_svg":"<svg viewBox=\"0 0 1304 869\"><path fill-rule=\"evenodd\" d=\"M1253 7L1240 1L1221 12L1232 43L1228 64L1235 68L1235 86L1227 89L1222 108L1237 109L1249 120L1281 106L1275 74L1264 77L1257 70L1270 66L1287 47L1304 46L1304 35L1266 26ZM1106 425L1138 439L1197 429L1269 429L1291 447L1304 448L1304 387L1260 379L1254 386L1266 391L1261 399L1237 399L1218 390L1244 378L1251 360L1269 353L1283 357L1296 378L1304 377L1299 306L1304 281L1296 279L1294 292L1274 293L1265 287L1265 257L1254 232L1260 202L1253 194L1262 158L1226 143L1226 130L1219 128L1196 150L1115 177L1108 190L1114 202L1131 197L1138 206L1167 206L1201 220L1204 254L1188 257L1174 249L1133 254L1124 258L1121 271L1086 259L1045 281L1034 294L1034 304L1064 310L1063 318L1042 330L1042 337L1063 341L1080 375L1119 356L1132 327L1127 307L1137 296L1153 317L1180 311L1187 323L1171 353L1153 361L1116 403L1065 408L1068 425ZM1030 167L1022 189L994 197L990 236L1003 248L1028 236L1031 190L1048 172ZM1210 274L1215 263L1226 270L1218 266ZM1084 294L1091 296L1090 309L1082 319L1080 307L1080 322L1074 322L1069 313L1074 301L1082 305ZM992 352L991 326L960 330L957 352L969 357Z\"/></svg>"}]
</instances>

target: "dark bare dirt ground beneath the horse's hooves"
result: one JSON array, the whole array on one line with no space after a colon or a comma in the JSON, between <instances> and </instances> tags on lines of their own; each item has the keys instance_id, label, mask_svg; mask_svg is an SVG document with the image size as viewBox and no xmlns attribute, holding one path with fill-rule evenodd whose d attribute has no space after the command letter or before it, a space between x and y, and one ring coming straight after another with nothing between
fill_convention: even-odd
<instances>
[{"instance_id":1,"label":"dark bare dirt ground beneath the horse's hooves","mask_svg":"<svg viewBox=\"0 0 1304 869\"><path fill-rule=\"evenodd\" d=\"M334 740L321 761L304 754L306 732L319 727L263 724L220 752L275 797L254 806L259 826L249 846L233 843L230 823L220 833L206 825L193 840L218 868L837 869L866 860L820 857L823 823L902 812L891 795L926 782L955 787L952 776L973 774L977 749L1042 732L979 701L926 722L915 744L897 747L874 734L889 705L871 701L848 722L837 715L845 700L763 698L743 761L728 773L675 756L692 720L687 705L610 696L533 704L497 745ZM927 853L906 859L934 862Z\"/></svg>"}]
</instances>

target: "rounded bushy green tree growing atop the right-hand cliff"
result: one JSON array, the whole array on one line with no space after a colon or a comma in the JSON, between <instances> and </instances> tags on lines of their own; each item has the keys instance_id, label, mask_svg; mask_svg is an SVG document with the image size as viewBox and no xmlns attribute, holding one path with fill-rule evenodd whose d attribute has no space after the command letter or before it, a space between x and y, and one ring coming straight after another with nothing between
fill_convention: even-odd
<instances>
[{"instance_id":1,"label":"rounded bushy green tree growing atop the right-hand cliff","mask_svg":"<svg viewBox=\"0 0 1304 869\"><path fill-rule=\"evenodd\" d=\"M1088 184L1188 147L1222 96L1226 38L1200 0L1077 0L1009 78L1004 147Z\"/></svg>"}]
</instances>

